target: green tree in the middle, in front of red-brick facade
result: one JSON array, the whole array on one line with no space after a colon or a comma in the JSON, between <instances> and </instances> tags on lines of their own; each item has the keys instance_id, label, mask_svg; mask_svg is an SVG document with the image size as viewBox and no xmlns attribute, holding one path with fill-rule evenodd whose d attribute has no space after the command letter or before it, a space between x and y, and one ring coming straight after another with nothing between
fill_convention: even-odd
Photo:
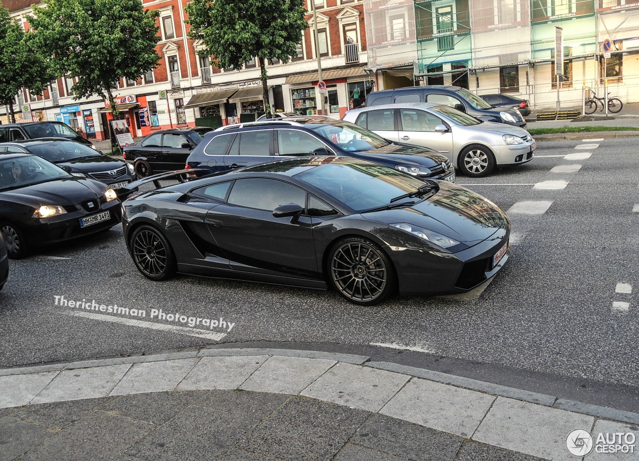
<instances>
[{"instance_id":1,"label":"green tree in the middle, in front of red-brick facade","mask_svg":"<svg viewBox=\"0 0 639 461\"><path fill-rule=\"evenodd\" d=\"M266 116L271 116L266 86L266 60L297 56L308 24L304 0L192 0L190 38L204 43L202 56L213 56L220 68L239 67L257 56Z\"/></svg>"}]
</instances>

